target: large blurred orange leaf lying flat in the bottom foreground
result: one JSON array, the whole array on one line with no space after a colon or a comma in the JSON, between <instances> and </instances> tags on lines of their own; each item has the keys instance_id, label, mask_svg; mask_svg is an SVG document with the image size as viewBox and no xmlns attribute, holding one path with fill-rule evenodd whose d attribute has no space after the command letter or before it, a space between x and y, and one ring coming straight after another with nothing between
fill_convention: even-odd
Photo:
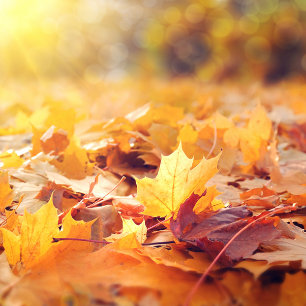
<instances>
[{"instance_id":1,"label":"large blurred orange leaf lying flat in the bottom foreground","mask_svg":"<svg viewBox=\"0 0 306 306\"><path fill-rule=\"evenodd\" d=\"M19 280L13 289L7 292L6 302L9 304L15 300L32 305L33 300L36 301L35 304L39 304L38 302L52 298L54 304L59 304L63 295L68 292L69 296L77 297L78 300L83 297L89 303L103 300L111 304L117 295L112 294L115 284L116 292L128 289L134 304L138 298L133 288L140 293L148 289L156 290L158 304L179 306L198 281L198 274L194 272L188 273L173 265L157 264L139 254L139 257L137 254L132 257L122 254L122 251L125 250L110 250L104 247L86 256L80 256L78 252L63 254L60 260L54 258L47 265ZM201 258L203 256L198 260ZM200 269L205 269L205 263L200 265ZM63 283L66 286L63 286ZM80 293L79 288L85 288L85 291ZM152 302L152 298L148 296L147 301L145 304ZM198 305L220 304L221 301L220 288L212 283L201 285L199 294L194 298L194 303Z\"/></svg>"}]
</instances>

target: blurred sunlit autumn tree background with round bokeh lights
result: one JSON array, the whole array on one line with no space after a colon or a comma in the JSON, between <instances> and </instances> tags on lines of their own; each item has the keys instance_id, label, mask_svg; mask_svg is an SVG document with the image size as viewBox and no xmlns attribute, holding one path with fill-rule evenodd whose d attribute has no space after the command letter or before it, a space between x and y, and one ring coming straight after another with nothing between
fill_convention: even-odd
<instances>
[{"instance_id":1,"label":"blurred sunlit autumn tree background with round bokeh lights","mask_svg":"<svg viewBox=\"0 0 306 306\"><path fill-rule=\"evenodd\" d=\"M2 0L0 81L303 81L305 26L305 0Z\"/></svg>"}]
</instances>

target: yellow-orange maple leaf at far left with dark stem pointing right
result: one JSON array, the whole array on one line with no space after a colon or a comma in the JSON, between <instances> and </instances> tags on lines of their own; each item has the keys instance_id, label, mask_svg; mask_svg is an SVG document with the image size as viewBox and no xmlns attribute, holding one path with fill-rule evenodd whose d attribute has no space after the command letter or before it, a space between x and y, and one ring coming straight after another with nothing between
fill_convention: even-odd
<instances>
[{"instance_id":1,"label":"yellow-orange maple leaf at far left with dark stem pointing right","mask_svg":"<svg viewBox=\"0 0 306 306\"><path fill-rule=\"evenodd\" d=\"M24 210L24 220L21 234L15 235L8 229L2 228L4 248L10 265L21 262L22 271L34 266L41 266L53 259L57 254L74 243L73 250L88 248L88 243L77 241L60 241L53 244L52 237L90 238L90 227L95 220L85 223L75 221L70 213L63 220L63 231L58 229L57 209L52 197L33 215ZM79 247L78 246L79 243Z\"/></svg>"}]
</instances>

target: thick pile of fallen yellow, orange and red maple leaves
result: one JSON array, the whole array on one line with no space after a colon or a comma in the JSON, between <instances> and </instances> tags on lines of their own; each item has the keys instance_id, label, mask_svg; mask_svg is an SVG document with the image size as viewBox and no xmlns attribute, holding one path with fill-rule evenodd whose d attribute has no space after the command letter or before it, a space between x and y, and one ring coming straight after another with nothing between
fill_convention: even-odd
<instances>
[{"instance_id":1,"label":"thick pile of fallen yellow, orange and red maple leaves","mask_svg":"<svg viewBox=\"0 0 306 306\"><path fill-rule=\"evenodd\" d=\"M2 305L306 303L306 99L167 90L106 121L5 110Z\"/></svg>"}]
</instances>

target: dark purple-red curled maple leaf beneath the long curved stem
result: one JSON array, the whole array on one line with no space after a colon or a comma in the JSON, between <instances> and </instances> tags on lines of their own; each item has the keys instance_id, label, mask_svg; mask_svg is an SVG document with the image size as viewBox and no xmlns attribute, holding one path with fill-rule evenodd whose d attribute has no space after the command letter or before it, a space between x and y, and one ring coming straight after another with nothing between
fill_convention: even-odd
<instances>
[{"instance_id":1,"label":"dark purple-red curled maple leaf beneath the long curved stem","mask_svg":"<svg viewBox=\"0 0 306 306\"><path fill-rule=\"evenodd\" d=\"M177 218L170 219L170 229L178 241L186 241L197 245L215 258L225 244L247 224L254 221L240 220L250 215L246 206L226 207L215 212L196 215L193 207L200 197L192 194L179 208ZM221 261L232 265L233 261L252 255L260 242L283 237L282 228L274 226L274 220L261 220L242 232L227 248Z\"/></svg>"}]
</instances>

